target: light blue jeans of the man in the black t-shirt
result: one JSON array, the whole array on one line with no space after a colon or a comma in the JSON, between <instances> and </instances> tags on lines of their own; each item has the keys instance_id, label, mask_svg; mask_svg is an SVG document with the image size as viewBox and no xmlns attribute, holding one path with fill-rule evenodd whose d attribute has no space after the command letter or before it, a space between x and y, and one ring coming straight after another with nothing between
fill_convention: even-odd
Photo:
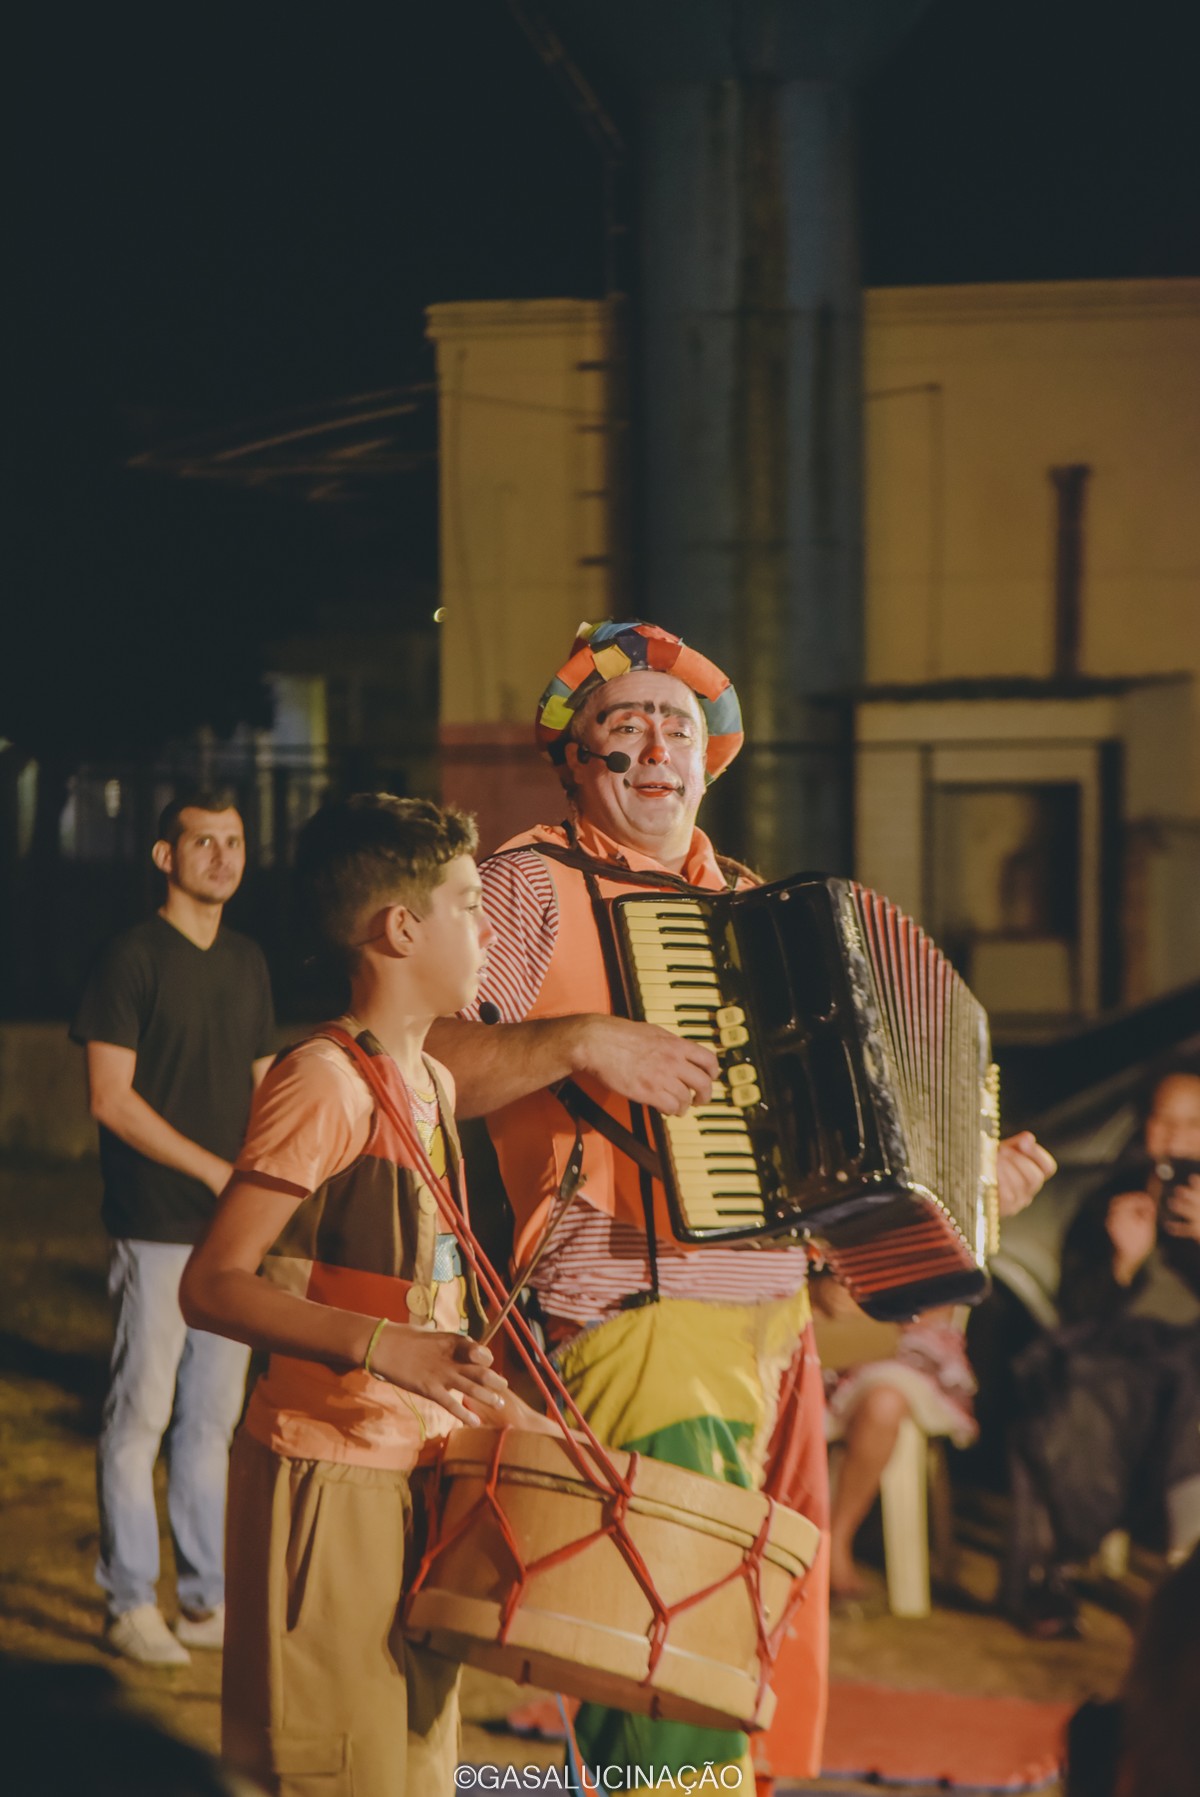
<instances>
[{"instance_id":1,"label":"light blue jeans of the man in the black t-shirt","mask_svg":"<svg viewBox=\"0 0 1200 1797\"><path fill-rule=\"evenodd\" d=\"M250 1350L185 1324L180 1276L189 1254L174 1242L111 1245L117 1335L95 1468L95 1576L111 1616L158 1601L154 1461L163 1436L180 1603L210 1610L225 1596L225 1486Z\"/></svg>"}]
</instances>

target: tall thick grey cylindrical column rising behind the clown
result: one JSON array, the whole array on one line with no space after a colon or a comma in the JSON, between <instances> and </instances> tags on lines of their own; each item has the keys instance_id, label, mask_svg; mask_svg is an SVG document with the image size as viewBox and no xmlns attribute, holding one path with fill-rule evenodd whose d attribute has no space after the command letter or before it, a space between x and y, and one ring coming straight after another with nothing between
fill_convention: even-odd
<instances>
[{"instance_id":1,"label":"tall thick grey cylindrical column rising behind the clown","mask_svg":"<svg viewBox=\"0 0 1200 1797\"><path fill-rule=\"evenodd\" d=\"M848 870L862 679L855 97L925 0L559 0L641 93L645 615L733 676L710 823Z\"/></svg>"}]
</instances>

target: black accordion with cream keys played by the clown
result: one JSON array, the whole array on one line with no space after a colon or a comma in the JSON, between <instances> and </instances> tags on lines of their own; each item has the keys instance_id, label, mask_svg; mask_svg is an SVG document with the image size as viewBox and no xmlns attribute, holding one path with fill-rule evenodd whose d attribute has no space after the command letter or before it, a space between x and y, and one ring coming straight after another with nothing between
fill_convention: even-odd
<instances>
[{"instance_id":1,"label":"black accordion with cream keys played by the clown","mask_svg":"<svg viewBox=\"0 0 1200 1797\"><path fill-rule=\"evenodd\" d=\"M997 1247L988 1019L853 881L611 900L629 1014L708 1042L708 1105L654 1114L681 1242L810 1242L873 1317L975 1303Z\"/></svg>"}]
</instances>

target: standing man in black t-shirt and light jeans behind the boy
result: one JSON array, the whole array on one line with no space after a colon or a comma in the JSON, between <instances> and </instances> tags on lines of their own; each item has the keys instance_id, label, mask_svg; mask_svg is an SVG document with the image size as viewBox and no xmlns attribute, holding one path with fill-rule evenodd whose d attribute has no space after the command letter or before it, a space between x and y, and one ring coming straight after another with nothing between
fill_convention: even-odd
<instances>
[{"instance_id":1,"label":"standing man in black t-shirt and light jeans behind the boy","mask_svg":"<svg viewBox=\"0 0 1200 1797\"><path fill-rule=\"evenodd\" d=\"M144 1664L180 1666L189 1646L223 1641L225 1484L248 1359L241 1344L187 1328L180 1274L232 1173L275 1017L262 951L221 927L246 866L232 800L198 792L167 805L153 859L165 902L104 949L70 1033L88 1053L113 1238L97 1580L110 1644ZM156 1601L153 1474L167 1427L174 1633Z\"/></svg>"}]
</instances>

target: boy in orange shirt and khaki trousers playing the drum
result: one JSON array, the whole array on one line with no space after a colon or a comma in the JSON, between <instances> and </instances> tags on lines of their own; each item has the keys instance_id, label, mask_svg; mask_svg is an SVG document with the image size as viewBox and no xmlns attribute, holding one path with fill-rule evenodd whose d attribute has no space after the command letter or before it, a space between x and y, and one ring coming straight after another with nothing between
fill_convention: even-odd
<instances>
[{"instance_id":1,"label":"boy in orange shirt and khaki trousers playing the drum","mask_svg":"<svg viewBox=\"0 0 1200 1797\"><path fill-rule=\"evenodd\" d=\"M271 1357L230 1461L221 1714L226 1759L282 1797L453 1792L458 1668L399 1624L411 1475L462 1423L553 1427L471 1341L478 1296L429 1188L462 1204L449 1075L422 1042L474 997L492 936L474 846L462 812L390 794L307 823L300 881L370 1067L320 1033L280 1057L183 1276L192 1326Z\"/></svg>"}]
</instances>

